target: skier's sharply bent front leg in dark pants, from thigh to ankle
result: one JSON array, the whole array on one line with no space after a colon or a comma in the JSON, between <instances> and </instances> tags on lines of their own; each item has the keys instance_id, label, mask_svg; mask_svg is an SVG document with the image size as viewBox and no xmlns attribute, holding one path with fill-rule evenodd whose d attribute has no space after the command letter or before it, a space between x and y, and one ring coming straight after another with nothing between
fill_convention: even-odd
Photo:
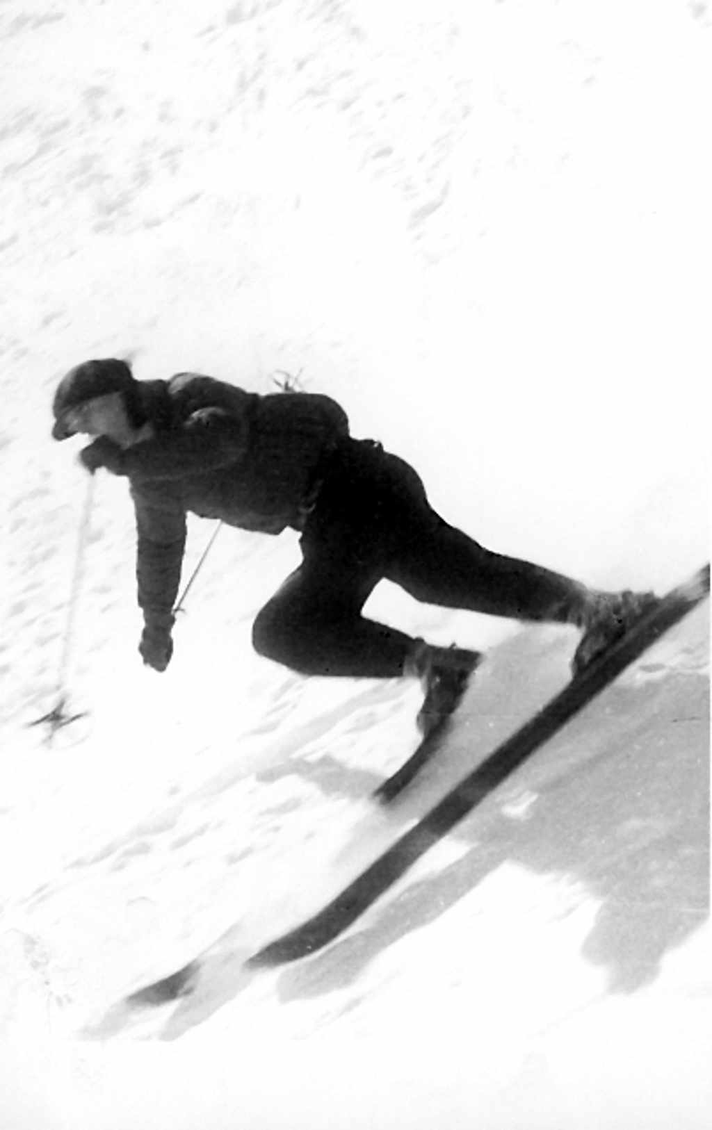
<instances>
[{"instance_id":1,"label":"skier's sharply bent front leg in dark pants, from thigh to ankle","mask_svg":"<svg viewBox=\"0 0 712 1130\"><path fill-rule=\"evenodd\" d=\"M255 650L304 675L396 678L415 641L361 615L377 576L302 564L259 612Z\"/></svg>"}]
</instances>

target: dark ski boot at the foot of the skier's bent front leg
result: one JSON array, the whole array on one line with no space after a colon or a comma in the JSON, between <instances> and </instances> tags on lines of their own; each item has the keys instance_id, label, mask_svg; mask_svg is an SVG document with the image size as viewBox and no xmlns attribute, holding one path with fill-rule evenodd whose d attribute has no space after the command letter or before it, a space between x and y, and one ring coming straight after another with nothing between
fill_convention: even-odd
<instances>
[{"instance_id":1,"label":"dark ski boot at the foot of the skier's bent front leg","mask_svg":"<svg viewBox=\"0 0 712 1130\"><path fill-rule=\"evenodd\" d=\"M406 673L416 675L425 699L416 724L424 738L439 729L458 707L481 653L466 647L439 647L418 640Z\"/></svg>"}]
</instances>

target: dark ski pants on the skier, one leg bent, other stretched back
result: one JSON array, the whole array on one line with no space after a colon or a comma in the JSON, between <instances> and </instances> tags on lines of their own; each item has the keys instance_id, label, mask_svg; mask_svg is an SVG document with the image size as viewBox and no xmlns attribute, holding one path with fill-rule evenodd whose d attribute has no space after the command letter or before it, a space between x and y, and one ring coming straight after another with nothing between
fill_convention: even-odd
<instances>
[{"instance_id":1,"label":"dark ski pants on the skier, one leg bent, other stretched back","mask_svg":"<svg viewBox=\"0 0 712 1130\"><path fill-rule=\"evenodd\" d=\"M587 593L449 525L414 469L370 440L347 440L330 457L301 548L252 638L260 654L307 675L402 673L414 638L362 616L382 580L426 603L520 620L575 623Z\"/></svg>"}]
</instances>

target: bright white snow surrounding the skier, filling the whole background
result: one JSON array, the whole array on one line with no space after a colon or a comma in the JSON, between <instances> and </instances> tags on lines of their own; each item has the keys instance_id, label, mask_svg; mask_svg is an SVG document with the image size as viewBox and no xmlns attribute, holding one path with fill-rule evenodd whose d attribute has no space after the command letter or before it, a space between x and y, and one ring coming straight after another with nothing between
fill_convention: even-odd
<instances>
[{"instance_id":1,"label":"bright white snow surrounding the skier, filling the whole background","mask_svg":"<svg viewBox=\"0 0 712 1130\"><path fill-rule=\"evenodd\" d=\"M706 608L335 946L332 897L566 678L489 649L390 811L417 688L301 679L250 623L296 536L223 530L162 677L132 512L50 438L88 357L336 397L493 549L663 591L707 555L706 0L6 0L0 9L2 1130L709 1124ZM191 523L184 579L211 532ZM127 998L208 948L194 991Z\"/></svg>"}]
</instances>

